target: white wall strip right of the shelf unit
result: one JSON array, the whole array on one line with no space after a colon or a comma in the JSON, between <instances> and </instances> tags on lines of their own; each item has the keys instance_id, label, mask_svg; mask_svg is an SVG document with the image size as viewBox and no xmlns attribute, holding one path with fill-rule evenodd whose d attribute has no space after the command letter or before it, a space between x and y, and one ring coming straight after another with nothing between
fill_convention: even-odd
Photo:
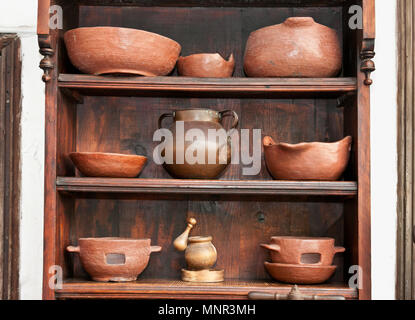
<instances>
[{"instance_id":1,"label":"white wall strip right of the shelf unit","mask_svg":"<svg viewBox=\"0 0 415 320\"><path fill-rule=\"evenodd\" d=\"M400 0L398 0L400 1ZM396 1L376 1L371 89L372 297L395 299L397 228Z\"/></svg>"}]
</instances>

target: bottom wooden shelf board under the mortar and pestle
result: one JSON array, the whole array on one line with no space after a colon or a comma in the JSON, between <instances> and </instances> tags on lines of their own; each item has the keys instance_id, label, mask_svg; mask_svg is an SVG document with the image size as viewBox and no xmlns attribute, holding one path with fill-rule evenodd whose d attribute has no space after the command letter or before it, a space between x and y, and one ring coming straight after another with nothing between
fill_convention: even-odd
<instances>
[{"instance_id":1,"label":"bottom wooden shelf board under the mortar and pestle","mask_svg":"<svg viewBox=\"0 0 415 320\"><path fill-rule=\"evenodd\" d=\"M128 283L100 283L70 280L55 290L58 299L247 299L251 291L287 294L292 285L265 281L226 280L200 284L179 280L138 280ZM340 295L357 299L356 289L344 284L299 286L307 295Z\"/></svg>"}]
</instances>

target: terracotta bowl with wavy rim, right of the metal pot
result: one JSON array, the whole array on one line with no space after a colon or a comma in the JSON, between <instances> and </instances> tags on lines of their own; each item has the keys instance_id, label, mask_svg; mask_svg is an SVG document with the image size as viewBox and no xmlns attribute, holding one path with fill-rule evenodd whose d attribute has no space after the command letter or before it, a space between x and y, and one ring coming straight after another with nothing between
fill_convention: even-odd
<instances>
[{"instance_id":1,"label":"terracotta bowl with wavy rim, right of the metal pot","mask_svg":"<svg viewBox=\"0 0 415 320\"><path fill-rule=\"evenodd\" d=\"M349 162L352 137L334 143L275 143L264 138L265 162L274 179L336 181Z\"/></svg>"}]
</instances>

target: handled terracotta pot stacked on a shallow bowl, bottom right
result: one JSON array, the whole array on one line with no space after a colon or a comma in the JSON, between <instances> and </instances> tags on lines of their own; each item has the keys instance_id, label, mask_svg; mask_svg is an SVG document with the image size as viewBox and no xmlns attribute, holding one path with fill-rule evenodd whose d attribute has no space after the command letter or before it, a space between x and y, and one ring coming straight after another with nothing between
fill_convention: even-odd
<instances>
[{"instance_id":1,"label":"handled terracotta pot stacked on a shallow bowl, bottom right","mask_svg":"<svg viewBox=\"0 0 415 320\"><path fill-rule=\"evenodd\" d=\"M297 265L330 266L336 253L344 252L335 247L332 238L272 237L271 244L261 244L268 249L271 261Z\"/></svg>"}]
</instances>

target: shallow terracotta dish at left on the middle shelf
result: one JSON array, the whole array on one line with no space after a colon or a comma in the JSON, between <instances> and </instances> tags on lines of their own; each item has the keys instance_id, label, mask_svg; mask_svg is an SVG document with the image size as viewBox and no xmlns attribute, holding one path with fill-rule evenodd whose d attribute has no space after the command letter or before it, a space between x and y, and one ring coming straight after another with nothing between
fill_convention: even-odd
<instances>
[{"instance_id":1,"label":"shallow terracotta dish at left on the middle shelf","mask_svg":"<svg viewBox=\"0 0 415 320\"><path fill-rule=\"evenodd\" d=\"M117 153L72 152L69 157L86 177L135 178L147 162L143 156Z\"/></svg>"}]
</instances>

